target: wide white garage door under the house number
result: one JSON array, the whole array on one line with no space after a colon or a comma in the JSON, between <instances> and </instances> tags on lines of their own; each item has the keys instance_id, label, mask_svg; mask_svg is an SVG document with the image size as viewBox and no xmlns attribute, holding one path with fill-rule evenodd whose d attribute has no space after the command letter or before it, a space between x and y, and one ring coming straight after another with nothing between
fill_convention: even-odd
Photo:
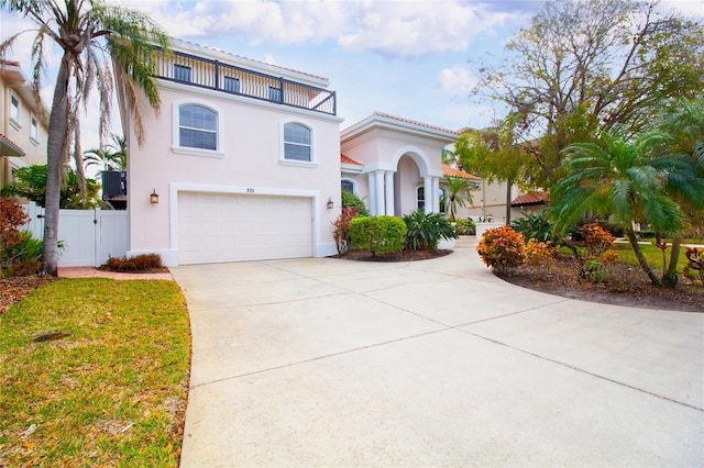
<instances>
[{"instance_id":1,"label":"wide white garage door under the house number","mask_svg":"<svg viewBox=\"0 0 704 468\"><path fill-rule=\"evenodd\" d=\"M312 199L189 193L178 196L179 263L312 256Z\"/></svg>"}]
</instances>

